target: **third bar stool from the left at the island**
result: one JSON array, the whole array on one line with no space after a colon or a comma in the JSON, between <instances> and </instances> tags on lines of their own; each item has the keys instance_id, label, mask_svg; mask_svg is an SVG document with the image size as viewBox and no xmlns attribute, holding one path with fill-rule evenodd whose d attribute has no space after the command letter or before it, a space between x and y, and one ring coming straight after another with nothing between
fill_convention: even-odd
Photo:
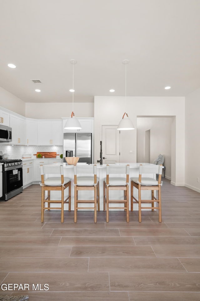
<instances>
[{"instance_id":1,"label":"third bar stool from the left at the island","mask_svg":"<svg viewBox=\"0 0 200 301\"><path fill-rule=\"evenodd\" d=\"M110 177L110 174L115 177ZM117 175L117 177L116 177ZM119 176L118 176L119 175ZM122 177L124 175L124 177ZM126 175L126 176L125 176ZM128 211L128 182L129 182L129 165L107 165L106 166L106 178L103 181L103 211L106 211L106 222L109 222L109 209L124 209L126 211L126 221L129 222ZM111 200L109 199L109 191L111 190L123 190L123 200ZM111 203L123 203L123 207L110 207Z\"/></svg>"}]
</instances>

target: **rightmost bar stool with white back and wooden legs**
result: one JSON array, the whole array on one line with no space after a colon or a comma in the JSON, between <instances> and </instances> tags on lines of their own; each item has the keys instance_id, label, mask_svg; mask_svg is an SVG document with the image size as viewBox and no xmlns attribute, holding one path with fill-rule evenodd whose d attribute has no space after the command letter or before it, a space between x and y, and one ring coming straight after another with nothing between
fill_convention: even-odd
<instances>
[{"instance_id":1,"label":"rightmost bar stool with white back and wooden legs","mask_svg":"<svg viewBox=\"0 0 200 301\"><path fill-rule=\"evenodd\" d=\"M154 165L154 166L145 166L140 164L139 166L139 178L131 178L131 211L133 211L133 203L138 203L138 216L139 222L141 223L142 215L141 209L158 209L158 220L161 223L161 177L162 177L163 166ZM158 181L154 180L152 177L142 177L143 174L158 174ZM138 199L133 196L133 187L138 189ZM142 190L151 190L151 200L142 200L141 191ZM154 191L158 190L158 199L154 197ZM133 201L135 200L135 202ZM155 203L158 203L158 206ZM151 207L141 207L142 203L151 203Z\"/></svg>"}]
</instances>

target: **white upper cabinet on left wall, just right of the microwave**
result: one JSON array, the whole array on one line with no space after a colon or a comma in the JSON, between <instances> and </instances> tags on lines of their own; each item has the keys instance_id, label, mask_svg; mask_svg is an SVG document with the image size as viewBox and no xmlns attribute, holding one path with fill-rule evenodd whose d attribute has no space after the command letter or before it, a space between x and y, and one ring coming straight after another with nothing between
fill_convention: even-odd
<instances>
[{"instance_id":1,"label":"white upper cabinet on left wall, just right of the microwave","mask_svg":"<svg viewBox=\"0 0 200 301\"><path fill-rule=\"evenodd\" d=\"M12 142L10 144L26 145L26 119L10 114Z\"/></svg>"}]
</instances>

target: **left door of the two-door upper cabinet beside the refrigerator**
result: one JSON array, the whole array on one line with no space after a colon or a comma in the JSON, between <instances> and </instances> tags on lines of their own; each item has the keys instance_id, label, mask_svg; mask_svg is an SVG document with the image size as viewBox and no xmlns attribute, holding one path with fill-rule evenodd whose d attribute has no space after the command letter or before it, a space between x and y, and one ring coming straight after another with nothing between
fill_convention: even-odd
<instances>
[{"instance_id":1,"label":"left door of the two-door upper cabinet beside the refrigerator","mask_svg":"<svg viewBox=\"0 0 200 301\"><path fill-rule=\"evenodd\" d=\"M52 145L51 143L51 121L38 122L38 144Z\"/></svg>"}]
</instances>

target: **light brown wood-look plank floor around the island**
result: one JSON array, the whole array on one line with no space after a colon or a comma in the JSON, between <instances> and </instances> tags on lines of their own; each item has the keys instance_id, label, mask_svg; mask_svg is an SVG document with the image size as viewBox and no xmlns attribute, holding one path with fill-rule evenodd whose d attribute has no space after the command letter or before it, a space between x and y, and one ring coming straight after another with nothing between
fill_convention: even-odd
<instances>
[{"instance_id":1,"label":"light brown wood-look plank floor around the island","mask_svg":"<svg viewBox=\"0 0 200 301\"><path fill-rule=\"evenodd\" d=\"M26 284L0 294L30 301L199 301L200 193L163 178L158 213L45 212L41 187L0 201L0 283ZM32 286L34 284L34 287ZM40 286L37 287L37 284ZM48 284L49 290L44 290ZM46 289L46 288L45 288Z\"/></svg>"}]
</instances>

